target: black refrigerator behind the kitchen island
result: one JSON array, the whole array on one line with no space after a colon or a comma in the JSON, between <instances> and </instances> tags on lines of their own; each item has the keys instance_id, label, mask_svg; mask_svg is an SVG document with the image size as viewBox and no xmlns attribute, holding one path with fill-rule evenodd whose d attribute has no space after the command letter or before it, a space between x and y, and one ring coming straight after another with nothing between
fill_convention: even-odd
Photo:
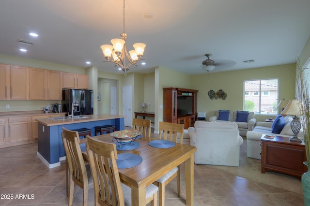
<instances>
[{"instance_id":1,"label":"black refrigerator behind the kitchen island","mask_svg":"<svg viewBox=\"0 0 310 206\"><path fill-rule=\"evenodd\" d=\"M90 89L63 89L62 112L66 115L93 115L93 90Z\"/></svg>"}]
</instances>

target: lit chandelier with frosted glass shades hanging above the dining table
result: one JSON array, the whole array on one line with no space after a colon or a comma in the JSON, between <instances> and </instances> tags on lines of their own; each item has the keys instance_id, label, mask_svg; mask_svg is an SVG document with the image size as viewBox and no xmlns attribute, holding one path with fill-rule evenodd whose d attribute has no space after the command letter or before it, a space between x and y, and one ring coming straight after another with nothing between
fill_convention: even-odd
<instances>
[{"instance_id":1,"label":"lit chandelier with frosted glass shades hanging above the dining table","mask_svg":"<svg viewBox=\"0 0 310 206\"><path fill-rule=\"evenodd\" d=\"M125 0L123 1L123 33L121 33L121 39L112 39L110 44L103 44L100 46L102 52L107 59L104 62L113 62L116 65L120 66L124 72L124 75L127 75L127 71L131 65L136 65L136 62L141 59L143 56L145 44L136 43L133 44L135 50L127 52L126 49L126 38L127 34L125 33ZM113 60L111 59L111 56Z\"/></svg>"}]
</instances>

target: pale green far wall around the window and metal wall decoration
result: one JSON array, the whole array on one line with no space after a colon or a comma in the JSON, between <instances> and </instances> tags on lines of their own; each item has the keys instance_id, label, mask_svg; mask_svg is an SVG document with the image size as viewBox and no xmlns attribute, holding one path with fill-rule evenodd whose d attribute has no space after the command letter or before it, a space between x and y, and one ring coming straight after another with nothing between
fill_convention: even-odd
<instances>
[{"instance_id":1,"label":"pale green far wall around the window and metal wall decoration","mask_svg":"<svg viewBox=\"0 0 310 206\"><path fill-rule=\"evenodd\" d=\"M279 78L279 99L294 99L295 64L191 75L190 88L199 90L198 112L206 112L208 119L214 116L215 111L219 109L242 110L244 81L263 78ZM224 90L227 93L227 98L211 100L207 94L210 89ZM264 115L255 117L259 121L264 121L266 118Z\"/></svg>"}]
</instances>

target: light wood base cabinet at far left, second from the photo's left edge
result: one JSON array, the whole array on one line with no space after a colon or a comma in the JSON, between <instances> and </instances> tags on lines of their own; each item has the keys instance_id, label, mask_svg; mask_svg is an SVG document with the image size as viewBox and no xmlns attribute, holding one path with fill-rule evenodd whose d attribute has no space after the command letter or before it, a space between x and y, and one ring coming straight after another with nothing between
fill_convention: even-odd
<instances>
[{"instance_id":1,"label":"light wood base cabinet at far left, second from the photo's left edge","mask_svg":"<svg viewBox=\"0 0 310 206\"><path fill-rule=\"evenodd\" d=\"M9 143L31 139L31 117L9 118Z\"/></svg>"}]
</instances>

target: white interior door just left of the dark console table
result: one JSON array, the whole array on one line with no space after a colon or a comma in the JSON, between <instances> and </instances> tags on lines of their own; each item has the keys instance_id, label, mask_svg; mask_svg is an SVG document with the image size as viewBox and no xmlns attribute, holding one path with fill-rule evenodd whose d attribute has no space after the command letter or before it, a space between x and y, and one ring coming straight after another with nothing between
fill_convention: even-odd
<instances>
[{"instance_id":1,"label":"white interior door just left of the dark console table","mask_svg":"<svg viewBox=\"0 0 310 206\"><path fill-rule=\"evenodd\" d=\"M132 127L132 87L124 86L123 87L123 115L124 125L127 127Z\"/></svg>"}]
</instances>

